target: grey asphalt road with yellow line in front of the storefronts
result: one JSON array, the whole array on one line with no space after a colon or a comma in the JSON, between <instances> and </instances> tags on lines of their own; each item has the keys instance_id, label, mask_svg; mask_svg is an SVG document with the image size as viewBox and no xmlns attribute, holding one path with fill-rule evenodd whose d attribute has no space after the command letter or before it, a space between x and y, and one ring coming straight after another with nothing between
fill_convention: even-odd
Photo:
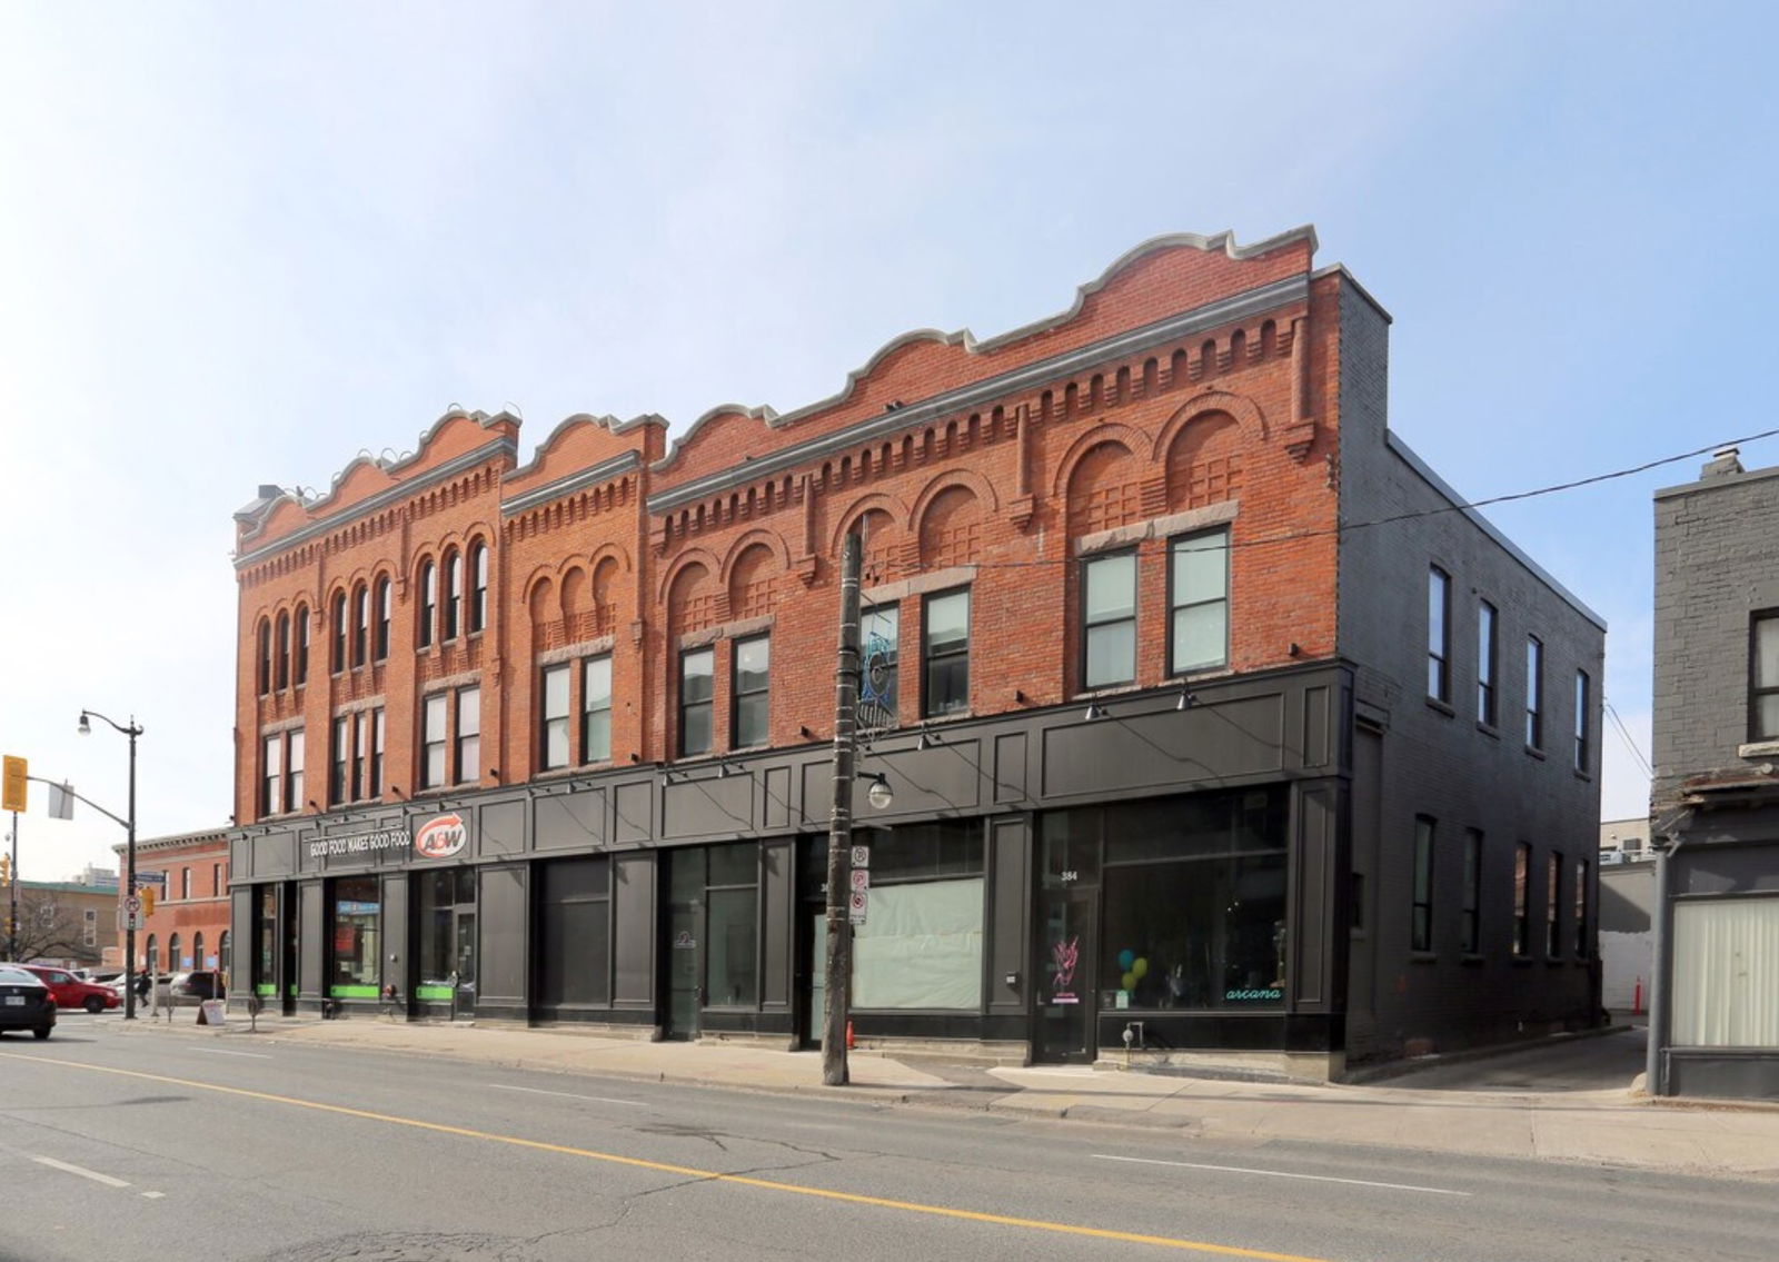
<instances>
[{"instance_id":1,"label":"grey asphalt road with yellow line in front of the storefronts","mask_svg":"<svg viewBox=\"0 0 1779 1262\"><path fill-rule=\"evenodd\" d=\"M1775 1257L1772 1184L690 1089L343 1047L0 1040L0 1258Z\"/></svg>"}]
</instances>

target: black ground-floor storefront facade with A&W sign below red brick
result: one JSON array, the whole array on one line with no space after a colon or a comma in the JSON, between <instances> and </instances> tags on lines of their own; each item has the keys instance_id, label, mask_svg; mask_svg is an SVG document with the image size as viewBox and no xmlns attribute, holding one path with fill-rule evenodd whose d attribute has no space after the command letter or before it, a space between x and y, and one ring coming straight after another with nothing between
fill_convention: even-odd
<instances>
[{"instance_id":1,"label":"black ground-floor storefront facade with A&W sign below red brick","mask_svg":"<svg viewBox=\"0 0 1779 1262\"><path fill-rule=\"evenodd\" d=\"M1350 667L1318 664L861 746L857 1036L1338 1075L1350 698ZM829 755L589 771L238 829L233 926L253 951L235 1002L809 1047Z\"/></svg>"}]
</instances>

